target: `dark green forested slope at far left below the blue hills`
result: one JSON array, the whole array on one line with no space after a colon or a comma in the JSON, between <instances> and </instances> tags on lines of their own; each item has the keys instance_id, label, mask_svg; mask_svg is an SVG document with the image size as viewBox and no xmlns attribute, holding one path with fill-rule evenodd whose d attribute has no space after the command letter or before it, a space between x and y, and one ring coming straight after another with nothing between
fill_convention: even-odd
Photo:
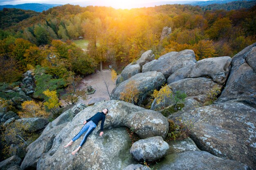
<instances>
[{"instance_id":1,"label":"dark green forested slope at far left below the blue hills","mask_svg":"<svg viewBox=\"0 0 256 170\"><path fill-rule=\"evenodd\" d=\"M39 12L16 8L4 8L0 11L0 28L4 29L9 26L14 26L18 22L36 15L39 15Z\"/></svg>"}]
</instances>

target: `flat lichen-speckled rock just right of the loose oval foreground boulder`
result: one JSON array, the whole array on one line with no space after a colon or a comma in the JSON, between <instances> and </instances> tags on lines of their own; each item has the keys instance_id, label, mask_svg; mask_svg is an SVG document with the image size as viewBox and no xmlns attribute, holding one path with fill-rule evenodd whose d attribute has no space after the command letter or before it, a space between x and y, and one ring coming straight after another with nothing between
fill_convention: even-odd
<instances>
[{"instance_id":1,"label":"flat lichen-speckled rock just right of the loose oval foreground boulder","mask_svg":"<svg viewBox=\"0 0 256 170\"><path fill-rule=\"evenodd\" d=\"M200 150L191 138L186 138L183 140L171 140L168 142L168 144L170 147L170 149L168 150L168 155L173 153L182 153L191 150Z\"/></svg>"}]
</instances>

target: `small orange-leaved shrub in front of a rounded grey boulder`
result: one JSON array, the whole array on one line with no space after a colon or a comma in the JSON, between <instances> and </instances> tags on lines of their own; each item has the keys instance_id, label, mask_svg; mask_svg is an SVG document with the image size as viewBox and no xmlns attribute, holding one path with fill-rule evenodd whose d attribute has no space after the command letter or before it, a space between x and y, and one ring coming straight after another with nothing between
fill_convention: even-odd
<instances>
[{"instance_id":1,"label":"small orange-leaved shrub in front of a rounded grey boulder","mask_svg":"<svg viewBox=\"0 0 256 170\"><path fill-rule=\"evenodd\" d=\"M137 83L130 81L126 84L124 92L120 93L120 99L125 102L132 102L135 104L139 98L139 90L137 89Z\"/></svg>"}]
</instances>

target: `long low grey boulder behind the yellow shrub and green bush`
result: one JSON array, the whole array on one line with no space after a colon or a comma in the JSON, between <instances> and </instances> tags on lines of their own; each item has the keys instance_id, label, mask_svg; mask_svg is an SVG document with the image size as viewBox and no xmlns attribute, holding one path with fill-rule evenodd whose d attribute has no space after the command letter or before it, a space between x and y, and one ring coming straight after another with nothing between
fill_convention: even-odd
<instances>
[{"instance_id":1,"label":"long low grey boulder behind the yellow shrub and green bush","mask_svg":"<svg viewBox=\"0 0 256 170\"><path fill-rule=\"evenodd\" d=\"M215 87L222 88L222 85L219 85L216 82L213 82L211 78L199 77L199 78L185 78L179 81L175 81L167 85L173 92L185 92L186 96L204 96L204 99L211 94L211 90ZM161 91L160 89L159 91ZM156 102L155 98L150 107L151 110L159 109L163 107L163 104L166 106L173 105L172 96L166 97L165 103Z\"/></svg>"}]
</instances>

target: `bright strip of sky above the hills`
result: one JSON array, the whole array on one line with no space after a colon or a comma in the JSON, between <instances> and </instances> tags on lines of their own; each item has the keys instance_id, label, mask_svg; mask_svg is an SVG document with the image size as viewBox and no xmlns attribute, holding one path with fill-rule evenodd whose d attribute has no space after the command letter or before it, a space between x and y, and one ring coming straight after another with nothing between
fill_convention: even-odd
<instances>
[{"instance_id":1,"label":"bright strip of sky above the hills","mask_svg":"<svg viewBox=\"0 0 256 170\"><path fill-rule=\"evenodd\" d=\"M25 4L25 3L45 3L45 4L73 4L82 7L88 5L107 6L121 9L131 9L136 7L153 7L155 5L166 4L175 1L196 1L196 0L0 0L0 5L5 4Z\"/></svg>"}]
</instances>

